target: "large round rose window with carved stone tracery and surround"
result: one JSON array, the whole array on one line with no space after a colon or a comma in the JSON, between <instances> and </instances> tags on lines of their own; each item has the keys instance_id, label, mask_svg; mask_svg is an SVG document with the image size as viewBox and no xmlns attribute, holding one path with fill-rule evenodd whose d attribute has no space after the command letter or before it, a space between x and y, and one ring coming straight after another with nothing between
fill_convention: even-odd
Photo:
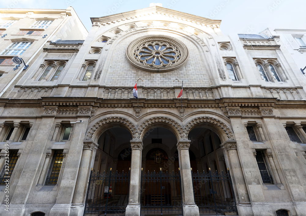
<instances>
[{"instance_id":1,"label":"large round rose window with carved stone tracery and surround","mask_svg":"<svg viewBox=\"0 0 306 216\"><path fill-rule=\"evenodd\" d=\"M129 61L149 71L170 71L188 60L188 49L175 38L147 35L132 41L126 51Z\"/></svg>"}]
</instances>

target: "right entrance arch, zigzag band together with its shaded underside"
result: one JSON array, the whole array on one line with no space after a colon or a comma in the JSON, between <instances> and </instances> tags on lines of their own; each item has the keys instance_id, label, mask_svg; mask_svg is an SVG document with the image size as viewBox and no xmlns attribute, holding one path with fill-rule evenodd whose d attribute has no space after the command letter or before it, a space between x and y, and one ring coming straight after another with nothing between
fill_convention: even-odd
<instances>
[{"instance_id":1,"label":"right entrance arch, zigzag band together with its shaded underside","mask_svg":"<svg viewBox=\"0 0 306 216\"><path fill-rule=\"evenodd\" d=\"M234 140L234 134L230 130L230 128L220 120L211 117L198 117L189 121L184 128L184 138L187 139L190 130L199 126L209 126L211 130L213 130L216 134L219 135L221 142L225 142L227 140Z\"/></svg>"}]
</instances>

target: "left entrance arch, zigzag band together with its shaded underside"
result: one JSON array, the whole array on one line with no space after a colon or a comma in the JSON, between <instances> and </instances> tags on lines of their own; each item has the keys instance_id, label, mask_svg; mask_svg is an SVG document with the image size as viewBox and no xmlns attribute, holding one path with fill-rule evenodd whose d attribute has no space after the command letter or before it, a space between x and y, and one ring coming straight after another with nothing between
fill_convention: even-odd
<instances>
[{"instance_id":1,"label":"left entrance arch, zigzag band together with its shaded underside","mask_svg":"<svg viewBox=\"0 0 306 216\"><path fill-rule=\"evenodd\" d=\"M119 126L127 129L132 134L133 139L136 138L136 127L128 119L122 117L108 117L99 120L88 130L86 134L86 140L95 141L99 138L99 135L102 134L106 129L109 129L114 126Z\"/></svg>"}]
</instances>

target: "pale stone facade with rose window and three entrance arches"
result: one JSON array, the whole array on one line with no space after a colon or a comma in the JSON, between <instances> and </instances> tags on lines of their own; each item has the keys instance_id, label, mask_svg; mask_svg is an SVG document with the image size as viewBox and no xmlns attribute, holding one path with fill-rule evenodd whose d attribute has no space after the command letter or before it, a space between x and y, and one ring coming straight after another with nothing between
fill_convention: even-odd
<instances>
[{"instance_id":1,"label":"pale stone facade with rose window and three entrance arches","mask_svg":"<svg viewBox=\"0 0 306 216\"><path fill-rule=\"evenodd\" d=\"M161 6L91 21L84 42L80 35L48 41L2 93L0 154L7 146L19 154L9 181L11 215L83 215L91 170L119 168L131 173L125 215L140 215L140 173L152 171L155 148L168 156L160 170L181 173L184 215L201 213L190 170L227 168L239 215L306 215L305 79L277 37L239 35L233 42L222 34L221 20ZM146 35L155 39L144 41L145 52L129 49ZM136 52L139 58L130 61ZM156 69L170 62L171 52L174 68ZM186 60L176 65L180 57ZM56 152L62 165L48 185Z\"/></svg>"}]
</instances>

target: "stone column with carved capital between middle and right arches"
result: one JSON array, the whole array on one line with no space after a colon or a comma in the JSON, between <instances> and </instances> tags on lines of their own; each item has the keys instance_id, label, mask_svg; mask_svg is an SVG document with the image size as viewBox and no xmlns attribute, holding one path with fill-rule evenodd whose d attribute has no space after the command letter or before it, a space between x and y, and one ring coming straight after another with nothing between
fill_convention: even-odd
<instances>
[{"instance_id":1,"label":"stone column with carved capital between middle and right arches","mask_svg":"<svg viewBox=\"0 0 306 216\"><path fill-rule=\"evenodd\" d=\"M190 140L179 140L177 142L178 160L181 172L181 188L183 198L183 214L197 216L200 215L199 208L194 202L192 175L189 158Z\"/></svg>"}]
</instances>

